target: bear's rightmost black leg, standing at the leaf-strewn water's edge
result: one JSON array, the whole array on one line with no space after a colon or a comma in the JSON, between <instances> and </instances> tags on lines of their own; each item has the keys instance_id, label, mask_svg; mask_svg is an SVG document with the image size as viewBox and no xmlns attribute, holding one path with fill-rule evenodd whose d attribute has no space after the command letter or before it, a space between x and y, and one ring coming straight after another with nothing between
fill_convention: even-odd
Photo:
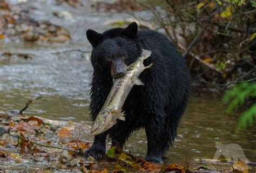
<instances>
[{"instance_id":1,"label":"bear's rightmost black leg, standing at the leaf-strewn water's edge","mask_svg":"<svg viewBox=\"0 0 256 173\"><path fill-rule=\"evenodd\" d=\"M147 156L145 159L153 163L163 163L164 126L159 121L151 121L145 130L147 136Z\"/></svg>"}]
</instances>

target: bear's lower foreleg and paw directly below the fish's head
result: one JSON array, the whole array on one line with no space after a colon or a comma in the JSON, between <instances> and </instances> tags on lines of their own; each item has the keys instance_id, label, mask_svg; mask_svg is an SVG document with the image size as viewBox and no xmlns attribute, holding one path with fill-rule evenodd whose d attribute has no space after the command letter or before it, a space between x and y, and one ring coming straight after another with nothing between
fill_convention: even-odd
<instances>
[{"instance_id":1,"label":"bear's lower foreleg and paw directly below the fish's head","mask_svg":"<svg viewBox=\"0 0 256 173\"><path fill-rule=\"evenodd\" d=\"M108 132L104 132L102 134L96 135L94 142L90 149L88 149L85 153L86 157L92 156L97 160L102 159L106 154L106 136Z\"/></svg>"}]
</instances>

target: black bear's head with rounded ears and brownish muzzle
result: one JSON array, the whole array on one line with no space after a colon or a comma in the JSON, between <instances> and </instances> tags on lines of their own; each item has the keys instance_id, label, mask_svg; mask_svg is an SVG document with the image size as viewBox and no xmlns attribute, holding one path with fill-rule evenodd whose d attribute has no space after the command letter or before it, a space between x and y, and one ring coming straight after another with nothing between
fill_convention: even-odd
<instances>
[{"instance_id":1,"label":"black bear's head with rounded ears and brownish muzzle","mask_svg":"<svg viewBox=\"0 0 256 173\"><path fill-rule=\"evenodd\" d=\"M103 33L87 30L86 36L92 45L91 62L94 70L123 77L127 66L138 59L142 49L136 41L138 25L132 22L126 28L114 28Z\"/></svg>"}]
</instances>

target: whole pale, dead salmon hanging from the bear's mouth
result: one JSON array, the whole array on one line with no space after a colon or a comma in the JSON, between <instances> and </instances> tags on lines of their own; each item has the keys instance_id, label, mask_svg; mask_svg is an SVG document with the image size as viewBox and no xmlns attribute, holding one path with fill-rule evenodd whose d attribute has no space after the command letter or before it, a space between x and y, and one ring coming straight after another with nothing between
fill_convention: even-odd
<instances>
[{"instance_id":1,"label":"whole pale, dead salmon hanging from the bear's mouth","mask_svg":"<svg viewBox=\"0 0 256 173\"><path fill-rule=\"evenodd\" d=\"M92 135L98 135L110 129L117 123L117 119L125 121L122 107L133 85L143 85L138 77L146 68L152 66L150 64L145 67L143 64L143 61L150 55L151 51L143 50L142 56L127 67L126 74L122 78L114 79L110 93L92 124Z\"/></svg>"}]
</instances>

